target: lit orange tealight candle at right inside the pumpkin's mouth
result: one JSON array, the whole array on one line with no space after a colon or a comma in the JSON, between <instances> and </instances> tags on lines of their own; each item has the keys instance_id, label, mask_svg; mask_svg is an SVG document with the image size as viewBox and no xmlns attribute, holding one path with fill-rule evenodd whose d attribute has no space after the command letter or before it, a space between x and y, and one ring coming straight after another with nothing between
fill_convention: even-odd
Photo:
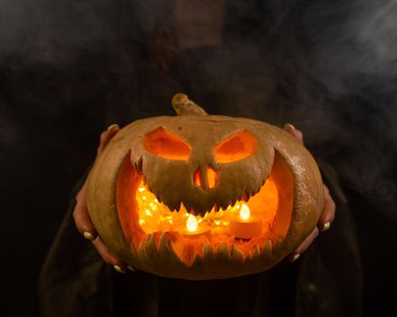
<instances>
[{"instance_id":1,"label":"lit orange tealight candle at right inside the pumpkin's mouth","mask_svg":"<svg viewBox=\"0 0 397 317\"><path fill-rule=\"evenodd\" d=\"M251 239L262 234L262 218L251 216L251 210L242 204L238 216L232 216L228 224L228 232L241 239Z\"/></svg>"}]
</instances>

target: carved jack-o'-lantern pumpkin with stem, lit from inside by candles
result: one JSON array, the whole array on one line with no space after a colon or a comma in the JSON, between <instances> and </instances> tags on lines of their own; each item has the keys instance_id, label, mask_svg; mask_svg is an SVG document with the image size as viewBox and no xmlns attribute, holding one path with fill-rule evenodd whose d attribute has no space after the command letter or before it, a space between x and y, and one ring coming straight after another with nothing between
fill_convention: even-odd
<instances>
[{"instance_id":1,"label":"carved jack-o'-lantern pumpkin with stem, lit from inside by candles","mask_svg":"<svg viewBox=\"0 0 397 317\"><path fill-rule=\"evenodd\" d=\"M179 116L132 122L89 180L92 223L132 267L192 280L265 271L314 229L315 160L286 131L208 115L186 95Z\"/></svg>"}]
</instances>

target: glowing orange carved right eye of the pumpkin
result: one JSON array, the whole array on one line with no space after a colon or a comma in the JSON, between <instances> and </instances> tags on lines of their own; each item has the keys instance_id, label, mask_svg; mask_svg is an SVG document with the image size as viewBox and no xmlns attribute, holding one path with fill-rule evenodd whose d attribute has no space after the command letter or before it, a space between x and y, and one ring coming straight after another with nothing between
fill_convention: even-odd
<instances>
[{"instance_id":1,"label":"glowing orange carved right eye of the pumpkin","mask_svg":"<svg viewBox=\"0 0 397 317\"><path fill-rule=\"evenodd\" d=\"M215 147L215 159L218 163L231 163L245 159L257 149L257 139L247 130L238 131Z\"/></svg>"}]
</instances>

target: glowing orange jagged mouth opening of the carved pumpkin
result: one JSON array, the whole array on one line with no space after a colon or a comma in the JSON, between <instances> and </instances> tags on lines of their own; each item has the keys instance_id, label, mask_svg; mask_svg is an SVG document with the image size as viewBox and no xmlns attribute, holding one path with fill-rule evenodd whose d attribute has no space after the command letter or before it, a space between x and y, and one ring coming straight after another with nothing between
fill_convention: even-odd
<instances>
[{"instance_id":1,"label":"glowing orange jagged mouth opening of the carved pumpkin","mask_svg":"<svg viewBox=\"0 0 397 317\"><path fill-rule=\"evenodd\" d=\"M237 201L236 205L226 210L212 209L204 216L193 216L183 204L178 212L161 204L145 187L142 176L135 172L127 156L118 177L116 201L122 230L132 247L138 248L147 235L153 235L158 244L161 233L166 232L180 260L190 265L195 255L203 254L204 245L216 250L226 244L229 248L237 247L244 256L252 256L258 249L267 247L269 242L275 245L279 239L283 240L292 218L294 177L286 160L275 151L270 176L255 196L247 201ZM230 219L236 216L242 221L247 221L244 220L247 217L249 221L247 210L240 213L242 208L246 208L245 205L250 216L262 219L263 230L261 235L253 238L237 239L229 234L228 225ZM188 224L191 216L194 219ZM210 235L200 235L204 227L210 230ZM183 232L187 231L197 232L198 235L186 237Z\"/></svg>"}]
</instances>

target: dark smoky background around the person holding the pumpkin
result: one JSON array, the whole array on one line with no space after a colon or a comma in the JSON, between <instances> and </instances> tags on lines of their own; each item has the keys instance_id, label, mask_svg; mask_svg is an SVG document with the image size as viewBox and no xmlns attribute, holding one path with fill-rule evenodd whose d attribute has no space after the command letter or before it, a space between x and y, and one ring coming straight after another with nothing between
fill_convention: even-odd
<instances>
[{"instance_id":1,"label":"dark smoky background around the person holding the pumpkin","mask_svg":"<svg viewBox=\"0 0 397 317\"><path fill-rule=\"evenodd\" d=\"M397 2L227 1L221 48L179 52L170 1L0 2L2 309L38 313L37 278L107 125L172 114L291 122L351 203L364 313L397 278ZM73 260L73 259L71 259Z\"/></svg>"}]
</instances>

